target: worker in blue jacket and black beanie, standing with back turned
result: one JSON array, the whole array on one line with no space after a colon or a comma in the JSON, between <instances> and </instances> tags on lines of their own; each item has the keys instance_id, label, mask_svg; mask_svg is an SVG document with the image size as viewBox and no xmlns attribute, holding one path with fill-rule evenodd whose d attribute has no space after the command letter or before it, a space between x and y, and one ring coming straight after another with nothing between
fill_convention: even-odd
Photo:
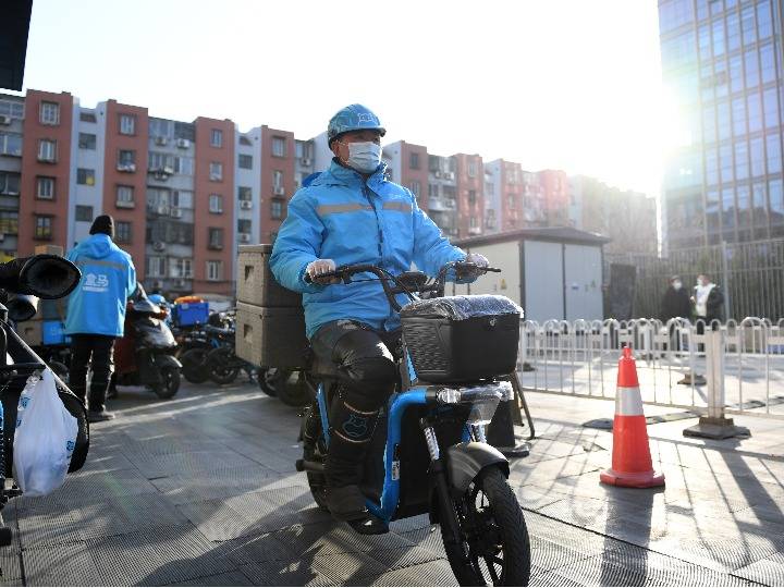
<instances>
[{"instance_id":1,"label":"worker in blue jacket and black beanie, standing with back turned","mask_svg":"<svg viewBox=\"0 0 784 588\"><path fill-rule=\"evenodd\" d=\"M87 366L93 368L89 390L90 421L114 418L106 409L106 396L113 370L114 340L123 335L125 304L136 290L136 269L131 256L118 247L114 219L97 217L90 237L68 255L82 270L82 280L71 293L65 333L72 338L69 385L82 401L87 396Z\"/></svg>"}]
</instances>

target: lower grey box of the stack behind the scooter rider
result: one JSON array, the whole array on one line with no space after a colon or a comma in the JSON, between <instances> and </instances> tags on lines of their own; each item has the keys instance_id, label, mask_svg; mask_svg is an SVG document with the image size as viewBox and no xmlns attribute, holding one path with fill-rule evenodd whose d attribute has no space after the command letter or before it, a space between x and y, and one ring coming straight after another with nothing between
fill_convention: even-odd
<instances>
[{"instance_id":1,"label":"lower grey box of the stack behind the scooter rider","mask_svg":"<svg viewBox=\"0 0 784 588\"><path fill-rule=\"evenodd\" d=\"M238 357L261 367L302 368L307 347L302 306L267 308L237 303Z\"/></svg>"}]
</instances>

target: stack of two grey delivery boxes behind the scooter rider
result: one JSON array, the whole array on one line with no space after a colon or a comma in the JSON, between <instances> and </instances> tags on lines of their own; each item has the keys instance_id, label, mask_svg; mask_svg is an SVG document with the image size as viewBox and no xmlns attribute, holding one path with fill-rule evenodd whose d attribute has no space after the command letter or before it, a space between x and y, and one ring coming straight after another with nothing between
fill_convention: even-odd
<instances>
[{"instance_id":1,"label":"stack of two grey delivery boxes behind the scooter rider","mask_svg":"<svg viewBox=\"0 0 784 588\"><path fill-rule=\"evenodd\" d=\"M272 245L241 245L237 257L236 354L266 368L301 368L308 342L302 295L269 268Z\"/></svg>"}]
</instances>

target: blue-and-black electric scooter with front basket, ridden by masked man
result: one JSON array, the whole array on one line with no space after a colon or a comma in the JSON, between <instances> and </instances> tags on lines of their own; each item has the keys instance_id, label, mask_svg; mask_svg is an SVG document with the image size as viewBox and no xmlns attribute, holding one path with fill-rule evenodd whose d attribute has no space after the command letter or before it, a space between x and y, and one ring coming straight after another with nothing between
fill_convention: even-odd
<instances>
[{"instance_id":1,"label":"blue-and-black electric scooter with front basket, ridden by masked man","mask_svg":"<svg viewBox=\"0 0 784 588\"><path fill-rule=\"evenodd\" d=\"M400 384L363 467L371 519L354 528L387 532L392 520L429 513L461 586L526 586L530 543L523 510L507 481L509 462L485 437L499 403L512 399L509 375L516 366L522 309L504 296L444 296L448 279L488 271L500 270L451 262L432 281L371 265L326 274L346 284L380 281L402 323L394 350ZM305 378L314 402L303 416L304 454L296 467L307 473L313 497L326 510L330 406L346 379L318 358Z\"/></svg>"}]
</instances>

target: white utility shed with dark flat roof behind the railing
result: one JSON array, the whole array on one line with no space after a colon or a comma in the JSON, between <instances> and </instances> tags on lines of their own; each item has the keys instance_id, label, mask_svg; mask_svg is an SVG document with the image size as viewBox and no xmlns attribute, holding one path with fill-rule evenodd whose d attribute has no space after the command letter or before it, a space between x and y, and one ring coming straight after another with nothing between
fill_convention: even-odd
<instances>
[{"instance_id":1,"label":"white utility shed with dark flat roof behind the railing","mask_svg":"<svg viewBox=\"0 0 784 588\"><path fill-rule=\"evenodd\" d=\"M610 240L569 226L523 229L458 241L501 273L487 273L455 294L502 294L527 319L603 319L602 246Z\"/></svg>"}]
</instances>

